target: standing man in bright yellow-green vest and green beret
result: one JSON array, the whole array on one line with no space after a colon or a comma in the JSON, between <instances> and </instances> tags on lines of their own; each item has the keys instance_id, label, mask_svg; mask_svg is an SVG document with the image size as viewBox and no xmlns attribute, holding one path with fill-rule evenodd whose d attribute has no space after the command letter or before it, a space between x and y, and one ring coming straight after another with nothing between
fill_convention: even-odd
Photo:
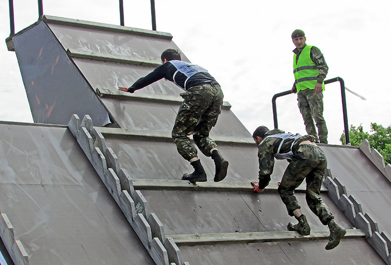
<instances>
[{"instance_id":1,"label":"standing man in bright yellow-green vest and green beret","mask_svg":"<svg viewBox=\"0 0 391 265\"><path fill-rule=\"evenodd\" d=\"M327 143L327 127L323 117L323 92L328 67L321 51L305 43L304 32L300 29L292 33L292 41L296 46L293 50L293 73L295 83L292 92L297 93L300 113L303 115L305 131L313 135L317 142ZM318 127L318 132L316 132ZM319 137L318 137L319 134Z\"/></svg>"}]
</instances>

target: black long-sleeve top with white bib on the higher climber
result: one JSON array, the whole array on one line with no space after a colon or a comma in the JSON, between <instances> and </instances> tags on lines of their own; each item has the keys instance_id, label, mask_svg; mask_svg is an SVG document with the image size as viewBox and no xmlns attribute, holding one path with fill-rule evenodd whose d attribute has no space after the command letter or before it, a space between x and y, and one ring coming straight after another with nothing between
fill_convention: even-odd
<instances>
[{"instance_id":1,"label":"black long-sleeve top with white bib on the higher climber","mask_svg":"<svg viewBox=\"0 0 391 265\"><path fill-rule=\"evenodd\" d=\"M218 84L216 79L211 76L208 72L199 72L195 75L191 76L189 79L187 76L182 74L181 72L177 72L177 68L170 62L166 62L153 70L147 76L139 78L134 84L128 89L129 92L134 92L136 90L142 89L153 82L156 82L162 78L166 78L184 90L187 90L190 87L206 84L206 83L215 83ZM175 74L176 73L176 74ZM175 75L175 80L174 80ZM185 87L185 81L186 87Z\"/></svg>"}]
</instances>

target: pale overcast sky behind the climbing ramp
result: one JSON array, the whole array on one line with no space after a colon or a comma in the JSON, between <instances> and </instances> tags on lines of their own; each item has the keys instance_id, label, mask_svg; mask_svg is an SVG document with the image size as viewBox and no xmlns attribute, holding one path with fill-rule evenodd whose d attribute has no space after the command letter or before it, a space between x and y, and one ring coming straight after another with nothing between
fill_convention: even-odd
<instances>
[{"instance_id":1,"label":"pale overcast sky behind the climbing ramp","mask_svg":"<svg viewBox=\"0 0 391 265\"><path fill-rule=\"evenodd\" d=\"M223 4L222 4L223 3ZM38 19L37 0L14 1L16 32ZM150 0L124 0L125 25L152 29ZM244 126L274 127L271 99L289 90L294 76L291 33L302 29L329 67L326 79L340 76L346 92L348 124L391 124L390 2L328 1L156 1L157 30L220 83L224 100ZM0 2L0 36L10 34L8 1ZM118 0L43 0L46 15L119 24ZM0 45L0 120L33 122L14 52ZM326 85L324 116L328 141L340 144L344 130L339 83ZM297 95L277 99L279 128L305 134Z\"/></svg>"}]
</instances>

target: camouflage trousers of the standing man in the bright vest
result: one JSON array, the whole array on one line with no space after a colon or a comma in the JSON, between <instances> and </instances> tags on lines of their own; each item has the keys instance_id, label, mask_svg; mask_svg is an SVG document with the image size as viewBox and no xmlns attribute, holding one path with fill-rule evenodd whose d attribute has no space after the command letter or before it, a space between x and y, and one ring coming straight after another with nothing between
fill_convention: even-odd
<instances>
[{"instance_id":1,"label":"camouflage trousers of the standing man in the bright vest","mask_svg":"<svg viewBox=\"0 0 391 265\"><path fill-rule=\"evenodd\" d=\"M299 101L298 105L307 134L315 136L317 142L326 144L327 127L323 117L323 92L316 95L313 89L301 90L297 93L297 101ZM316 132L314 120L318 132Z\"/></svg>"}]
</instances>

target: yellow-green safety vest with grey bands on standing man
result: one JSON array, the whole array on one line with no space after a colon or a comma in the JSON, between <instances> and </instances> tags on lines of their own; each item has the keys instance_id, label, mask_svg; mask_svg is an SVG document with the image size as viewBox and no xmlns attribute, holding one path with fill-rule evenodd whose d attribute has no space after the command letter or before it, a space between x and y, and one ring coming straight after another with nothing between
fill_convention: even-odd
<instances>
[{"instance_id":1,"label":"yellow-green safety vest with grey bands on standing man","mask_svg":"<svg viewBox=\"0 0 391 265\"><path fill-rule=\"evenodd\" d=\"M304 89L315 89L318 80L318 66L311 60L311 45L305 45L300 53L299 60L296 63L295 54L293 56L293 74L295 75L295 84L297 92ZM322 83L322 90L325 90L325 83Z\"/></svg>"}]
</instances>

